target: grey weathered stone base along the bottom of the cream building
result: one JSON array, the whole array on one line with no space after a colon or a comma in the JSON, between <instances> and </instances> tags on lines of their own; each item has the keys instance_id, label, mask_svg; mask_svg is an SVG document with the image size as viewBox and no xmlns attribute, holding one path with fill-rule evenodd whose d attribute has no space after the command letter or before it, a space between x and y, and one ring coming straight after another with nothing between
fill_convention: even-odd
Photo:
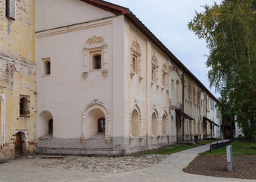
<instances>
[{"instance_id":1,"label":"grey weathered stone base along the bottom of the cream building","mask_svg":"<svg viewBox=\"0 0 256 182\"><path fill-rule=\"evenodd\" d=\"M58 155L126 155L168 146L175 143L174 139L175 137L170 136L168 140L168 137L165 136L156 138L153 142L151 136L147 138L145 136L142 139L134 137L132 140L124 137L113 137L110 143L107 143L104 137L92 137L85 139L83 144L80 138L60 139L41 137L37 140L36 152Z\"/></svg>"}]
</instances>

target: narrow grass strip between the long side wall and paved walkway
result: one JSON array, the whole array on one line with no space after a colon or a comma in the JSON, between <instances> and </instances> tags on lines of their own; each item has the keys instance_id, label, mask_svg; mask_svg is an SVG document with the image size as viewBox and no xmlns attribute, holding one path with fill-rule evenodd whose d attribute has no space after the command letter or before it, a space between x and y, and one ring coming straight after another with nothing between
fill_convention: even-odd
<instances>
[{"instance_id":1,"label":"narrow grass strip between the long side wall and paved walkway","mask_svg":"<svg viewBox=\"0 0 256 182\"><path fill-rule=\"evenodd\" d=\"M168 146L168 147L165 147L164 149L158 149L156 151L142 152L141 155L172 154L172 153L176 153L176 152L181 152L181 151L186 150L186 149L192 149L192 148L195 148L195 147L197 147L197 146L194 146L194 145Z\"/></svg>"}]
</instances>

